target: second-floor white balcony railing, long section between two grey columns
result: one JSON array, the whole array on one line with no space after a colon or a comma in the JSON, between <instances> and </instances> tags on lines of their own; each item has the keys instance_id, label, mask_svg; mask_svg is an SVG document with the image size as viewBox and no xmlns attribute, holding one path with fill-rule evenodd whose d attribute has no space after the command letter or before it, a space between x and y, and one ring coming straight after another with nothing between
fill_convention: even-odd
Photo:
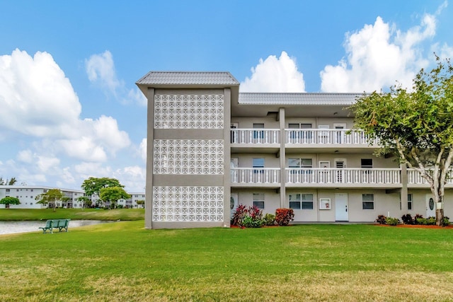
<instances>
[{"instance_id":1,"label":"second-floor white balcony railing, long section between two grey columns","mask_svg":"<svg viewBox=\"0 0 453 302\"><path fill-rule=\"evenodd\" d=\"M288 183L399 184L400 169L286 168Z\"/></svg>"}]
</instances>

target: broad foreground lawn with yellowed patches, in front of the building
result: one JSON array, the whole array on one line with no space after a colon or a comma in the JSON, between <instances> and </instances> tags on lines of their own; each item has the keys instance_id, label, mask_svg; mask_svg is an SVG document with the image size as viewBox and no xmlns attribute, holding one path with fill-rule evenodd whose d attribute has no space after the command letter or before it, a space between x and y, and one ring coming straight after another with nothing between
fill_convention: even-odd
<instances>
[{"instance_id":1,"label":"broad foreground lawn with yellowed patches, in front of the building","mask_svg":"<svg viewBox=\"0 0 453 302\"><path fill-rule=\"evenodd\" d=\"M452 301L451 229L145 230L0 236L0 301Z\"/></svg>"}]
</instances>

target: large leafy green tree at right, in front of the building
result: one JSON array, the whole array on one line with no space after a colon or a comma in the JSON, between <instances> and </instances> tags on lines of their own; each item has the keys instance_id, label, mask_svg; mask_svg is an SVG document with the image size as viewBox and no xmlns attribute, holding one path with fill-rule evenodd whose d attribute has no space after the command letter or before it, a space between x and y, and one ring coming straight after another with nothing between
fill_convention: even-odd
<instances>
[{"instance_id":1,"label":"large leafy green tree at right, in front of the building","mask_svg":"<svg viewBox=\"0 0 453 302\"><path fill-rule=\"evenodd\" d=\"M453 66L449 59L437 57L434 69L420 70L411 89L394 86L389 93L365 94L350 109L355 129L363 130L370 141L379 139L380 153L393 153L427 180L440 225L453 158Z\"/></svg>"}]
</instances>

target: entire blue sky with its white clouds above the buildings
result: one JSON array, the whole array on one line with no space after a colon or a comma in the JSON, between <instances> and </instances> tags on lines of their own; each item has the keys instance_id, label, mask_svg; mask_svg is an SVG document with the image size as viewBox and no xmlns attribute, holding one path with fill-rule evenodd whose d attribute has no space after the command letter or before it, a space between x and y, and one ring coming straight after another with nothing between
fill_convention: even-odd
<instances>
[{"instance_id":1,"label":"entire blue sky with its white clouds above the buildings","mask_svg":"<svg viewBox=\"0 0 453 302\"><path fill-rule=\"evenodd\" d=\"M145 184L148 71L230 71L241 91L411 85L453 57L453 8L406 1L0 0L0 177Z\"/></svg>"}]
</instances>

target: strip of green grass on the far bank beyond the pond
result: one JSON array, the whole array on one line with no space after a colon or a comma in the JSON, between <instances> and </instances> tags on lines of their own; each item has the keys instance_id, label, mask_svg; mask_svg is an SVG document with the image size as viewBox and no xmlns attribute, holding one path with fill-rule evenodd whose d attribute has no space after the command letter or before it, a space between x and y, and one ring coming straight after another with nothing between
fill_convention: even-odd
<instances>
[{"instance_id":1,"label":"strip of green grass on the far bank beyond the pond","mask_svg":"<svg viewBox=\"0 0 453 302\"><path fill-rule=\"evenodd\" d=\"M0 221L47 219L143 220L144 209L0 209Z\"/></svg>"}]
</instances>

